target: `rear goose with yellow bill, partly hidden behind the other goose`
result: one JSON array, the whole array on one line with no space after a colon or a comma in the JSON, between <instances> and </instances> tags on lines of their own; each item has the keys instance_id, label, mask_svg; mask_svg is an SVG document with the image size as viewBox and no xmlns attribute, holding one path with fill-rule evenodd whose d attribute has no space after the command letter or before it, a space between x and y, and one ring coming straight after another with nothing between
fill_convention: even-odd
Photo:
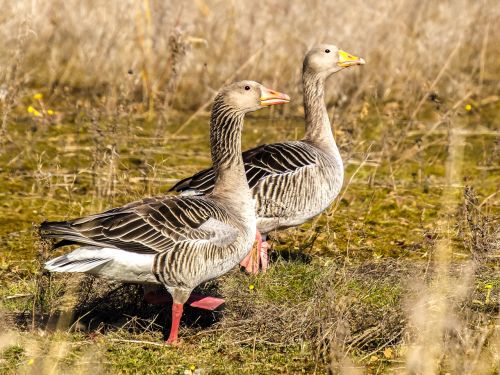
<instances>
[{"instance_id":1,"label":"rear goose with yellow bill, partly hidden behind the other goose","mask_svg":"<svg viewBox=\"0 0 500 375\"><path fill-rule=\"evenodd\" d=\"M312 48L304 58L302 83L306 131L300 141L264 144L243 153L245 172L256 200L257 247L241 262L250 273L267 268L267 234L293 227L320 214L337 197L344 167L326 110L325 81L340 70L362 65L362 58L334 45ZM170 190L207 194L215 172L208 168Z\"/></svg>"}]
</instances>

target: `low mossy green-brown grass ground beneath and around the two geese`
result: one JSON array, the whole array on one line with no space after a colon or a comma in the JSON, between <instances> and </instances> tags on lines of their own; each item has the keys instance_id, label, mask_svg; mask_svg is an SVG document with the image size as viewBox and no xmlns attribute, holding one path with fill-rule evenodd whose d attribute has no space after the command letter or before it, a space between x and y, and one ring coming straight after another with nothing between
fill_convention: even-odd
<instances>
[{"instance_id":1,"label":"low mossy green-brown grass ground beneath and around the two geese","mask_svg":"<svg viewBox=\"0 0 500 375\"><path fill-rule=\"evenodd\" d=\"M473 131L479 121L494 129L492 118L488 111L454 120ZM352 151L352 160L360 161L375 142L369 159L376 163L359 169L359 163L346 163L346 191L337 207L300 228L271 234L273 261L266 274L234 270L202 288L222 294L225 308L214 322L190 311L179 347L157 345L168 308L147 306L136 289L108 296L114 286L105 281L88 286L73 277L42 275L33 224L166 192L176 178L209 164L207 120L166 143L152 139L154 124L140 118L103 118L96 125L68 113L54 124L32 118L9 124L15 141L0 152L0 313L17 341L2 349L0 372L326 373L345 362L380 373L401 366L408 348L406 306L419 295L415 281L432 277L448 146L445 136L432 136L424 142L432 145L399 162L400 154L384 156L376 143L387 132L385 123L376 116L363 121L371 125L358 134L366 143L349 149L340 138L342 153ZM272 127L266 118L253 118L244 145L294 139L301 128L300 121ZM463 171L481 202L498 188L498 158L490 151L496 141L471 133L466 142ZM403 149L414 143L407 138ZM498 213L494 201L482 206L481 215ZM461 264L472 251L468 231L479 222L459 224L465 220L460 207L453 220L453 259ZM475 271L474 290L463 301L472 309L471 325L484 328L478 322L492 322L497 314L500 285L493 269L486 262ZM491 285L489 301L485 285ZM84 302L102 301L91 311L78 300L88 291ZM55 330L72 308L82 318L73 326L77 331ZM337 355L344 362L333 361Z\"/></svg>"}]
</instances>

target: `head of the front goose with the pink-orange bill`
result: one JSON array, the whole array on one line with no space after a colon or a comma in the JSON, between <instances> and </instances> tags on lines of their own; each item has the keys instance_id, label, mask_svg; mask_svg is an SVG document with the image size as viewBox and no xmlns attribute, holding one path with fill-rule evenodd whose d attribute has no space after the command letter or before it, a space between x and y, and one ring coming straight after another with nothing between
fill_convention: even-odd
<instances>
[{"instance_id":1,"label":"head of the front goose with the pink-orange bill","mask_svg":"<svg viewBox=\"0 0 500 375\"><path fill-rule=\"evenodd\" d=\"M240 81L228 85L218 97L226 106L241 113L290 101L287 94L271 90L255 81Z\"/></svg>"}]
</instances>

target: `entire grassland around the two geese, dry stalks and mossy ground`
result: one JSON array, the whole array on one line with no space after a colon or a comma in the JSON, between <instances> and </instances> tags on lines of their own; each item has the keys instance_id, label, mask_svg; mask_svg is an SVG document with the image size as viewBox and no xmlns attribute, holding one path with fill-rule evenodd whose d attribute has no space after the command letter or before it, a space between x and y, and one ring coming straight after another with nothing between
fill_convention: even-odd
<instances>
[{"instance_id":1,"label":"entire grassland around the two geese, dry stalks and mossy ground","mask_svg":"<svg viewBox=\"0 0 500 375\"><path fill-rule=\"evenodd\" d=\"M0 5L0 373L499 371L494 1ZM182 345L140 288L42 272L36 224L209 165L224 82L294 99L249 117L244 148L300 138L301 60L325 41L367 61L328 83L344 189L271 234L269 272L200 287L226 304L188 308Z\"/></svg>"}]
</instances>

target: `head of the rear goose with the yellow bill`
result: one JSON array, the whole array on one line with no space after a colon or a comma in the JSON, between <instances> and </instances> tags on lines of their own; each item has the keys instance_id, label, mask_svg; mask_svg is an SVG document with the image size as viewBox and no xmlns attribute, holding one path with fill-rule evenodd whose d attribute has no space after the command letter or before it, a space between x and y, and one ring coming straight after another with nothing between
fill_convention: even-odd
<instances>
[{"instance_id":1,"label":"head of the rear goose with the yellow bill","mask_svg":"<svg viewBox=\"0 0 500 375\"><path fill-rule=\"evenodd\" d=\"M320 75L324 78L355 65L364 65L361 57L347 53L333 44L313 47L304 59L304 73Z\"/></svg>"}]
</instances>

